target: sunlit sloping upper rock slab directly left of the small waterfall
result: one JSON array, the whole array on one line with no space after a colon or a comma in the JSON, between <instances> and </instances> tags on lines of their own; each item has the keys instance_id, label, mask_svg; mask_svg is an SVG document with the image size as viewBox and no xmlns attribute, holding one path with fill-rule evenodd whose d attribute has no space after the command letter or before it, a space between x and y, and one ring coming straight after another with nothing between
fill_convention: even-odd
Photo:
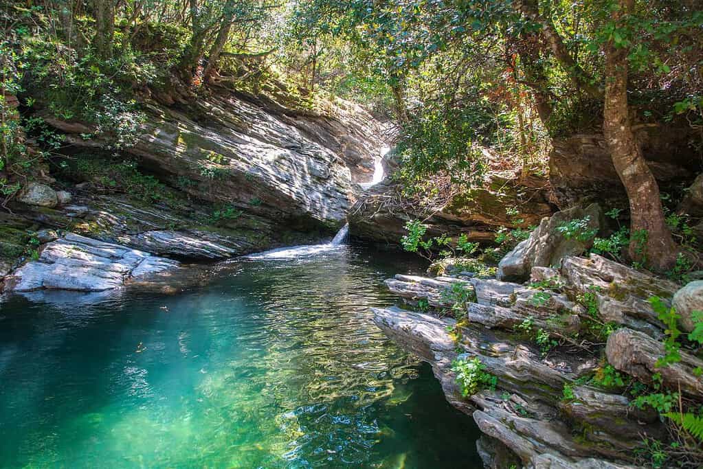
<instances>
[{"instance_id":1,"label":"sunlit sloping upper rock slab directly left of the small waterfall","mask_svg":"<svg viewBox=\"0 0 703 469\"><path fill-rule=\"evenodd\" d=\"M333 230L361 190L354 182L370 179L382 142L378 121L354 114L363 110L331 107L330 115L295 114L224 91L183 107L151 103L124 152L190 197L234 205L283 227ZM86 132L70 122L46 121L77 147L102 143L84 140Z\"/></svg>"}]
</instances>

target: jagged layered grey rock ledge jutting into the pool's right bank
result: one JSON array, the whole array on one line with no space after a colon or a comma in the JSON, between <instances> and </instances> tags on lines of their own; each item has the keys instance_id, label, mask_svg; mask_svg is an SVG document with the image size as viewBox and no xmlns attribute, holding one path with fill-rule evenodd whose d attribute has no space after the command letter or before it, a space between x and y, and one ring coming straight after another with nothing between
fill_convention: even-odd
<instances>
[{"instance_id":1,"label":"jagged layered grey rock ledge jutting into the pool's right bank","mask_svg":"<svg viewBox=\"0 0 703 469\"><path fill-rule=\"evenodd\" d=\"M664 353L663 329L646 298L657 294L669 302L675 286L595 255L567 256L557 269L533 267L531 277L548 277L557 287L547 290L470 274L396 275L386 281L390 291L403 304L424 310L374 308L374 320L389 338L430 363L446 399L474 418L484 432L477 447L487 468L638 467L631 465L633 450L645 435L665 437L666 428L652 409L637 409L621 390L594 387L588 377L600 369L605 355L615 369L641 381L651 379ZM466 319L460 322L436 314L456 308L452 293L457 284L469 298L462 306ZM591 293L600 306L598 317L576 303L584 293ZM576 333L591 319L619 329L607 344L603 339L583 347ZM530 333L521 329L527 322ZM561 345L546 353L540 350L534 341L538 330ZM690 371L703 362L683 350L682 355L681 364L662 373L663 384L676 389L680 383L685 395L700 399L703 379ZM497 378L496 389L463 396L452 362L473 357ZM565 397L565 386L571 397Z\"/></svg>"}]
</instances>

